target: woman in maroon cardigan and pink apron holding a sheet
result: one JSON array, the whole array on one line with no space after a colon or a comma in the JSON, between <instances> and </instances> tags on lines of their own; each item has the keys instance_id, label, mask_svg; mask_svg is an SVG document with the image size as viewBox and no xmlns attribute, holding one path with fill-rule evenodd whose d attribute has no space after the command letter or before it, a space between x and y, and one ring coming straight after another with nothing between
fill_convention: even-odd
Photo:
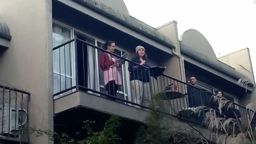
<instances>
[{"instance_id":1,"label":"woman in maroon cardigan and pink apron holding a sheet","mask_svg":"<svg viewBox=\"0 0 256 144\"><path fill-rule=\"evenodd\" d=\"M114 53L116 44L113 41L107 41L104 44L104 49L110 53ZM103 52L99 55L99 67L103 70L104 84L111 96L116 96L116 91L122 85L121 75L119 73L119 63L118 59L110 55L109 53ZM113 97L108 97L109 99L115 100Z\"/></svg>"}]
</instances>

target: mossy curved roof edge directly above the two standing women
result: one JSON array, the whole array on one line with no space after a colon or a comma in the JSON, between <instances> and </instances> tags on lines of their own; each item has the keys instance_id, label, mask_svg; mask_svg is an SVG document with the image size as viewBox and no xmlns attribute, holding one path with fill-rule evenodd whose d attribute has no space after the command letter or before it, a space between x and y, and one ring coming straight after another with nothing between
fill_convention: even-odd
<instances>
[{"instance_id":1,"label":"mossy curved roof edge directly above the two standing women","mask_svg":"<svg viewBox=\"0 0 256 144\"><path fill-rule=\"evenodd\" d=\"M167 45L170 48L175 48L173 46L173 42L168 37L165 37L162 33L158 32L155 28L148 26L146 23L141 22L140 20L137 20L136 18L131 17L130 15L121 13L117 10L115 10L115 7L107 6L108 4L98 2L99 0L78 0L82 4L94 8L94 10L97 10L101 14L108 14L106 17L112 18L119 23L122 23L123 25L126 25L127 27L130 27L134 29L135 31L138 31L141 34L146 34L148 37L151 37L151 39L155 39L159 43L163 43ZM105 0L106 1L106 0ZM113 6L113 5L112 5Z\"/></svg>"}]
</instances>

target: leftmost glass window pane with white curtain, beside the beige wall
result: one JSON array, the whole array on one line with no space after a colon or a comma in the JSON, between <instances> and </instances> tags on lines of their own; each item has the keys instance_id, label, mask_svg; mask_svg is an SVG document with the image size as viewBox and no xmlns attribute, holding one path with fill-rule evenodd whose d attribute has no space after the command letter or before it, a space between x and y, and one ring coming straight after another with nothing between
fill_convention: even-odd
<instances>
[{"instance_id":1,"label":"leftmost glass window pane with white curtain, beside the beige wall","mask_svg":"<svg viewBox=\"0 0 256 144\"><path fill-rule=\"evenodd\" d=\"M70 40L70 29L53 23L53 48ZM53 50L53 92L72 87L71 44Z\"/></svg>"}]
</instances>

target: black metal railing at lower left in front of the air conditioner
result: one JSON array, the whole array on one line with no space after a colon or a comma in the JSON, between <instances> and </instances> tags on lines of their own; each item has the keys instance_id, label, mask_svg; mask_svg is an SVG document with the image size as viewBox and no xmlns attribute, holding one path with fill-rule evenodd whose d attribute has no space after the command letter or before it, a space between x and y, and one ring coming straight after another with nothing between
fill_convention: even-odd
<instances>
[{"instance_id":1,"label":"black metal railing at lower left in front of the air conditioner","mask_svg":"<svg viewBox=\"0 0 256 144\"><path fill-rule=\"evenodd\" d=\"M30 93L0 86L0 139L29 142Z\"/></svg>"}]
</instances>

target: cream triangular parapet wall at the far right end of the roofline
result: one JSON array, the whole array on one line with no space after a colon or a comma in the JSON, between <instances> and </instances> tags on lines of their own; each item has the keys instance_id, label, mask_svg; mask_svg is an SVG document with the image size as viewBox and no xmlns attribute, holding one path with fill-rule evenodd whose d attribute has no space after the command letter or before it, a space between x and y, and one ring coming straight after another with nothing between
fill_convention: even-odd
<instances>
[{"instance_id":1,"label":"cream triangular parapet wall at the far right end of the roofline","mask_svg":"<svg viewBox=\"0 0 256 144\"><path fill-rule=\"evenodd\" d=\"M253 69L252 69L252 61L250 57L249 48L245 48L239 51L236 51L234 53L230 53L226 56L222 56L218 58L219 61L222 61L223 63L230 65L231 67L235 68L236 71L246 75L252 83L255 84L255 78L253 75ZM245 69L243 69L243 66ZM239 103L246 106L248 103L256 102L256 92L252 92L252 94L249 94L243 99L240 99Z\"/></svg>"}]
</instances>

